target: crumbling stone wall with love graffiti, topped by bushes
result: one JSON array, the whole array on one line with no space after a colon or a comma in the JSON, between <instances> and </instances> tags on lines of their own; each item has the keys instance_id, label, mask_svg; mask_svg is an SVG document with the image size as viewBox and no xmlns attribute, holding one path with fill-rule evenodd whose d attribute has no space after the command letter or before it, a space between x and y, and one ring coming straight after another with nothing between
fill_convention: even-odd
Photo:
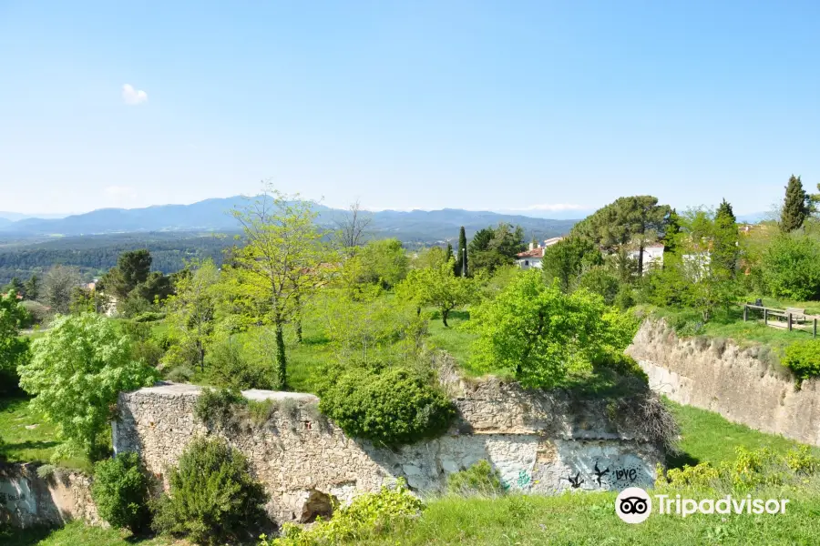
<instances>
[{"instance_id":1,"label":"crumbling stone wall with love graffiti, topped by bushes","mask_svg":"<svg viewBox=\"0 0 820 546\"><path fill-rule=\"evenodd\" d=\"M497 379L445 384L459 418L435 440L401 450L348 438L319 413L313 395L246 391L271 399L268 420L234 430L209 430L193 415L200 389L165 384L121 393L114 426L116 451L138 451L161 477L191 439L218 435L241 450L271 494L268 511L278 522L326 515L332 498L350 501L404 478L415 490L440 490L446 475L489 460L507 487L554 493L649 485L662 451L634 420L613 420L605 400L531 392Z\"/></svg>"}]
</instances>

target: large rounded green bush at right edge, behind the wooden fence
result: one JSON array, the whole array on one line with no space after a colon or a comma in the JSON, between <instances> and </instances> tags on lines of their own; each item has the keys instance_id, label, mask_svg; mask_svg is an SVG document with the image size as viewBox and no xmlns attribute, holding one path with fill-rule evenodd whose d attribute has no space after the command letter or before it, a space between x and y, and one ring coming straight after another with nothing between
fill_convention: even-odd
<instances>
[{"instance_id":1,"label":"large rounded green bush at right edge, behind the wooden fence","mask_svg":"<svg viewBox=\"0 0 820 546\"><path fill-rule=\"evenodd\" d=\"M820 242L794 235L774 239L764 253L763 276L775 298L820 298Z\"/></svg>"}]
</instances>

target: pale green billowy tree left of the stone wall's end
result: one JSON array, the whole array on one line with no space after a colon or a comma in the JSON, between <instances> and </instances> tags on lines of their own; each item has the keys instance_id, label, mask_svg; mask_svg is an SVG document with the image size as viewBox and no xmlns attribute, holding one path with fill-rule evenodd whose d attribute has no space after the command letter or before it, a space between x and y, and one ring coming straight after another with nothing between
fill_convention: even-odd
<instances>
[{"instance_id":1,"label":"pale green billowy tree left of the stone wall's end","mask_svg":"<svg viewBox=\"0 0 820 546\"><path fill-rule=\"evenodd\" d=\"M66 440L56 457L98 448L114 417L121 390L151 385L156 371L135 361L128 338L108 319L92 313L59 317L18 367L20 386L36 396L32 410L57 425Z\"/></svg>"}]
</instances>

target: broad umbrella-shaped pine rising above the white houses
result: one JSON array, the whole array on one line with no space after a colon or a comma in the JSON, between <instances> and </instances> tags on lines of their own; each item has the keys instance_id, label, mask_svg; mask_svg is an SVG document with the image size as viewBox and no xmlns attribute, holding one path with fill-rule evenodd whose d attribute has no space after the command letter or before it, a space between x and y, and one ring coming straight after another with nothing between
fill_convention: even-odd
<instances>
[{"instance_id":1,"label":"broad umbrella-shaped pine rising above the white houses","mask_svg":"<svg viewBox=\"0 0 820 546\"><path fill-rule=\"evenodd\" d=\"M634 245L638 250L638 274L643 274L643 250L663 238L670 225L671 208L658 205L658 197L619 197L610 205L584 218L569 232L589 238L608 252Z\"/></svg>"}]
</instances>

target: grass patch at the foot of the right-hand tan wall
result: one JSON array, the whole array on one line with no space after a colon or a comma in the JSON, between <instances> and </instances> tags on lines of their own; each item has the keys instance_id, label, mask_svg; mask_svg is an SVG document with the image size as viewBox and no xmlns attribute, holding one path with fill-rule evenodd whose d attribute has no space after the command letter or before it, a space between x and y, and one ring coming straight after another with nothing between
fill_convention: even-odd
<instances>
[{"instance_id":1,"label":"grass patch at the foot of the right-hand tan wall","mask_svg":"<svg viewBox=\"0 0 820 546\"><path fill-rule=\"evenodd\" d=\"M748 450L769 448L785 453L799 444L783 436L766 434L745 425L730 422L712 411L682 406L670 400L666 403L681 427L682 453L668 460L670 467L698 462L719 464L733 460L739 447ZM820 453L818 453L820 454Z\"/></svg>"}]
</instances>

